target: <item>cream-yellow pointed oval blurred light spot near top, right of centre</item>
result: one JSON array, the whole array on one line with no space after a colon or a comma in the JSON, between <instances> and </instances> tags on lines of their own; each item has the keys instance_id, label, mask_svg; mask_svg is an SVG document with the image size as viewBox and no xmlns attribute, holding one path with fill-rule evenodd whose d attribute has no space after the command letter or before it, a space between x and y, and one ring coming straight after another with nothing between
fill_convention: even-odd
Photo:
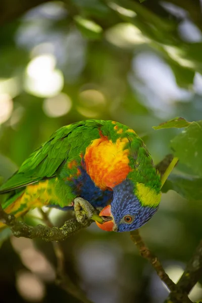
<instances>
[{"instance_id":1,"label":"cream-yellow pointed oval blurred light spot near top, right of centre","mask_svg":"<svg viewBox=\"0 0 202 303\"><path fill-rule=\"evenodd\" d=\"M119 23L106 31L106 39L112 44L128 48L149 42L142 32L130 23Z\"/></svg>"}]
</instances>

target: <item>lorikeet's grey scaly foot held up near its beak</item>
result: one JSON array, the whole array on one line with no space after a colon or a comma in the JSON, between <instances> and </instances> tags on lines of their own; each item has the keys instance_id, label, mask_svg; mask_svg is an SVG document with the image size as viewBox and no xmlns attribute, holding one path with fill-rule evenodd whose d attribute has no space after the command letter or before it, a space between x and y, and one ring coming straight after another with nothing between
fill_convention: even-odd
<instances>
[{"instance_id":1,"label":"lorikeet's grey scaly foot held up near its beak","mask_svg":"<svg viewBox=\"0 0 202 303\"><path fill-rule=\"evenodd\" d=\"M93 206L81 197L77 197L74 199L74 212L76 216L76 220L85 225L88 221L86 219L91 219L93 216L94 208Z\"/></svg>"}]
</instances>

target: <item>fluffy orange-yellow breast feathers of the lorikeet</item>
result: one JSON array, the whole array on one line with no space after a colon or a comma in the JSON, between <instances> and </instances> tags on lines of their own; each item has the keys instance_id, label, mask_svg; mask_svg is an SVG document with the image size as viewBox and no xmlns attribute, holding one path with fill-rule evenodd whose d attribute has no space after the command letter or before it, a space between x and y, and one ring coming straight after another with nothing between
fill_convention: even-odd
<instances>
[{"instance_id":1,"label":"fluffy orange-yellow breast feathers of the lorikeet","mask_svg":"<svg viewBox=\"0 0 202 303\"><path fill-rule=\"evenodd\" d=\"M86 148L84 157L86 171L100 189L115 187L130 172L129 150L125 148L127 143L127 138L118 138L113 143L102 135Z\"/></svg>"}]
</instances>

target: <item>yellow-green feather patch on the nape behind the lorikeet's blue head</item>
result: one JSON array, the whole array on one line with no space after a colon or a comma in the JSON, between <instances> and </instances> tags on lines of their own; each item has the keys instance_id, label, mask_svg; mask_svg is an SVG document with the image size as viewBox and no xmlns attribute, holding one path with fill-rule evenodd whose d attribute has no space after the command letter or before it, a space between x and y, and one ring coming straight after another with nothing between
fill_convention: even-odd
<instances>
[{"instance_id":1,"label":"yellow-green feather patch on the nape behind the lorikeet's blue head","mask_svg":"<svg viewBox=\"0 0 202 303\"><path fill-rule=\"evenodd\" d=\"M155 189L143 183L136 183L135 194L142 206L157 207L160 204L161 192L158 194Z\"/></svg>"}]
</instances>

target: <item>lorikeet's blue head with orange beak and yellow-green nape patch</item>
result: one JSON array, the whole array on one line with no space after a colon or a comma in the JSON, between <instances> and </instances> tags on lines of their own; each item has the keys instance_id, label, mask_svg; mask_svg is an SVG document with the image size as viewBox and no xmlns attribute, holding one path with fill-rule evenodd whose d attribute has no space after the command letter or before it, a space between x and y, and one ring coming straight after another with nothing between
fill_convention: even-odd
<instances>
[{"instance_id":1,"label":"lorikeet's blue head with orange beak and yellow-green nape patch","mask_svg":"<svg viewBox=\"0 0 202 303\"><path fill-rule=\"evenodd\" d=\"M97 226L106 231L132 231L144 225L157 212L161 193L142 183L124 180L113 188L111 205L106 206L99 216L103 223Z\"/></svg>"}]
</instances>

